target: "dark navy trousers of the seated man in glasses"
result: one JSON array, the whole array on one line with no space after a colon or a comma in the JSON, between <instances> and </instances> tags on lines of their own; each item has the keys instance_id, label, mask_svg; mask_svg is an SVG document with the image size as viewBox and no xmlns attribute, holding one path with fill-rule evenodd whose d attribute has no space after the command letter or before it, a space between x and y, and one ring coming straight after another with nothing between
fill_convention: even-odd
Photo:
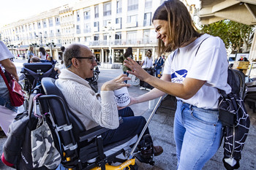
<instances>
[{"instance_id":1,"label":"dark navy trousers of the seated man in glasses","mask_svg":"<svg viewBox=\"0 0 256 170\"><path fill-rule=\"evenodd\" d=\"M119 117L124 120L116 129L111 129L102 134L103 144L111 144L118 142L127 137L140 135L146 125L146 119L143 116L134 116L134 113L130 107L118 110ZM149 134L148 128L144 134Z\"/></svg>"}]
</instances>

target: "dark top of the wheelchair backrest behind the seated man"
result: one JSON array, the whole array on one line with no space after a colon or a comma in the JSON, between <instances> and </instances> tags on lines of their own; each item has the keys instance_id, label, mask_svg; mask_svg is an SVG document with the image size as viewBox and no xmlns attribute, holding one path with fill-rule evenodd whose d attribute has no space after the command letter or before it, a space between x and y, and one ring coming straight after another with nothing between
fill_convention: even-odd
<instances>
[{"instance_id":1,"label":"dark top of the wheelchair backrest behind the seated man","mask_svg":"<svg viewBox=\"0 0 256 170\"><path fill-rule=\"evenodd\" d=\"M23 66L26 69L29 69L35 73L38 73L38 72L45 73L49 69L53 68L53 64L51 63L23 63Z\"/></svg>"}]
</instances>

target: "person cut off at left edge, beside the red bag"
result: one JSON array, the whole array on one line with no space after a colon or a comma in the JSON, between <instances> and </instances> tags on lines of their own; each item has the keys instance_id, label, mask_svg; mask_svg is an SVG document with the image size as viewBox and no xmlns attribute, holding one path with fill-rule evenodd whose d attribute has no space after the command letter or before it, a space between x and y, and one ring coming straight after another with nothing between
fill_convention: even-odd
<instances>
[{"instance_id":1,"label":"person cut off at left edge, beside the red bag","mask_svg":"<svg viewBox=\"0 0 256 170\"><path fill-rule=\"evenodd\" d=\"M15 79L18 81L18 74L16 67L10 58L13 58L12 53L3 42L0 41L0 66L1 69L4 69L9 72ZM4 131L4 134L7 134L8 127L14 120L17 112L17 107L13 107L10 101L9 90L5 84L3 78L0 76L0 126ZM3 135L3 134L1 134Z\"/></svg>"}]
</instances>

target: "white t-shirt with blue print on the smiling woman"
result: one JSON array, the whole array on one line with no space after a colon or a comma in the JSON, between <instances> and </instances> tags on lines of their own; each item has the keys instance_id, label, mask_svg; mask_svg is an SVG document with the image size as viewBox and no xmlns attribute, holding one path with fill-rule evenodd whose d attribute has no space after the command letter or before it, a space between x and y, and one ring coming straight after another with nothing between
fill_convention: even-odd
<instances>
[{"instance_id":1,"label":"white t-shirt with blue print on the smiling woman","mask_svg":"<svg viewBox=\"0 0 256 170\"><path fill-rule=\"evenodd\" d=\"M171 81L177 83L182 83L185 77L206 81L192 98L177 99L196 107L217 109L220 96L218 89L231 92L227 84L227 68L227 52L222 39L203 34L186 47L171 53L165 61L163 74L170 74Z\"/></svg>"}]
</instances>

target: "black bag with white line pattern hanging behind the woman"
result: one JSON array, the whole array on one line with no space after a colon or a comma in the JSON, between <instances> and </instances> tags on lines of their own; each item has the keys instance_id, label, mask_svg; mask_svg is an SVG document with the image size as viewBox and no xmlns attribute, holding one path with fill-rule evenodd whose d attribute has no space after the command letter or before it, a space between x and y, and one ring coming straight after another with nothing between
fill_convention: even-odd
<instances>
[{"instance_id":1,"label":"black bag with white line pattern hanging behind the woman","mask_svg":"<svg viewBox=\"0 0 256 170\"><path fill-rule=\"evenodd\" d=\"M227 83L232 88L231 93L219 90L219 120L222 121L222 137L224 138L223 163L226 169L239 168L241 151L249 132L249 115L244 107L245 75L228 69Z\"/></svg>"}]
</instances>

